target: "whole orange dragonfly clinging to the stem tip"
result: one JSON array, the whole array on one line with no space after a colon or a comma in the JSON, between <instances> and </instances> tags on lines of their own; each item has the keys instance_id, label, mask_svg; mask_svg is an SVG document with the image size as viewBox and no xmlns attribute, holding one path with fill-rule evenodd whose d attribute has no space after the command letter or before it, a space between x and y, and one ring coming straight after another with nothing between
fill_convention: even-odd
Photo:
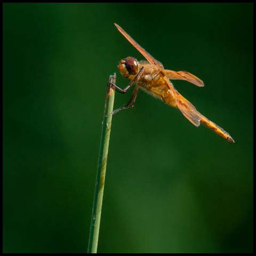
<instances>
[{"instance_id":1,"label":"whole orange dragonfly clinging to the stem tip","mask_svg":"<svg viewBox=\"0 0 256 256\"><path fill-rule=\"evenodd\" d=\"M186 80L196 86L203 87L204 83L201 79L186 71L172 71L164 69L161 62L153 58L120 26L116 23L115 26L119 32L146 58L147 61L138 61L133 57L127 57L119 62L117 66L119 71L125 78L130 79L130 83L125 87L125 89L121 89L114 85L116 90L118 92L125 93L133 84L135 84L135 88L129 102L124 107L114 110L112 114L117 113L119 110L132 108L139 89L142 89L143 91L164 101L167 105L178 108L181 113L195 126L199 126L200 123L202 123L227 141L235 142L233 138L231 138L231 136L220 126L199 113L196 108L174 88L170 81L175 79Z\"/></svg>"}]
</instances>

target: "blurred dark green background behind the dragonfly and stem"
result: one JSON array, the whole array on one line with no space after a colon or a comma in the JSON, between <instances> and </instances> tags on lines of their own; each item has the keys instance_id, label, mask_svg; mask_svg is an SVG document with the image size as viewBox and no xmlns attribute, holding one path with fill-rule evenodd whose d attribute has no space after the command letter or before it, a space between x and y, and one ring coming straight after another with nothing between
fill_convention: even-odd
<instances>
[{"instance_id":1,"label":"blurred dark green background behind the dragonfly and stem","mask_svg":"<svg viewBox=\"0 0 256 256\"><path fill-rule=\"evenodd\" d=\"M253 4L3 4L3 251L86 252L107 81L166 69L228 143L140 91L113 117L98 252L252 252ZM115 108L131 95L116 93Z\"/></svg>"}]
</instances>

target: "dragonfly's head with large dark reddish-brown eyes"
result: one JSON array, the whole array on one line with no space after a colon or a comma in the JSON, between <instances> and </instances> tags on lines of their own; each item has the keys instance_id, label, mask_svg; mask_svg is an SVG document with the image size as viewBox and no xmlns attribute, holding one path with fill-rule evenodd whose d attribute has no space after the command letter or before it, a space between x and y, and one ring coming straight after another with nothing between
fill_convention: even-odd
<instances>
[{"instance_id":1,"label":"dragonfly's head with large dark reddish-brown eyes","mask_svg":"<svg viewBox=\"0 0 256 256\"><path fill-rule=\"evenodd\" d=\"M117 67L121 74L128 79L134 78L139 72L139 63L133 57L122 59Z\"/></svg>"}]
</instances>

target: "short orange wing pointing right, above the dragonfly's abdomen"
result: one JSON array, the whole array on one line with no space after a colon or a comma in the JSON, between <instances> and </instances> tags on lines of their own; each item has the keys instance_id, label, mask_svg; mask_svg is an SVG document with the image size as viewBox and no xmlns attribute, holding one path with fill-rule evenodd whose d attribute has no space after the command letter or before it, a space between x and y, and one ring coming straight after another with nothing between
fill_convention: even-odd
<instances>
[{"instance_id":1,"label":"short orange wing pointing right, above the dragonfly's abdomen","mask_svg":"<svg viewBox=\"0 0 256 256\"><path fill-rule=\"evenodd\" d=\"M171 80L186 80L191 84L195 84L196 86L204 86L204 82L201 79L199 79L191 73L188 73L187 71L172 71L164 69L163 73Z\"/></svg>"}]
</instances>

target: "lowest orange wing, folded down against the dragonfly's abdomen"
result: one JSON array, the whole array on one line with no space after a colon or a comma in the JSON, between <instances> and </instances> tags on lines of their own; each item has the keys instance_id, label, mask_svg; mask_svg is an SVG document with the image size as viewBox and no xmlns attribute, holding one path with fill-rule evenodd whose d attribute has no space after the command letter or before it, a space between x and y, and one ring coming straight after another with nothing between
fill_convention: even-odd
<instances>
[{"instance_id":1,"label":"lowest orange wing, folded down against the dragonfly's abdomen","mask_svg":"<svg viewBox=\"0 0 256 256\"><path fill-rule=\"evenodd\" d=\"M195 126L200 125L202 115L196 110L195 106L186 100L176 91L176 105L181 113Z\"/></svg>"}]
</instances>

